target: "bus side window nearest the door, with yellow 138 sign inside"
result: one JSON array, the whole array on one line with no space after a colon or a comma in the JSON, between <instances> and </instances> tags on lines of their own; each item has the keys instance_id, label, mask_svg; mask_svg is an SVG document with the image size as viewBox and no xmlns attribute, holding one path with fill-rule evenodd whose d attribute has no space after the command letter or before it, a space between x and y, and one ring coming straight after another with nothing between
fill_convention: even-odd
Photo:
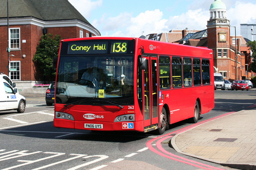
<instances>
[{"instance_id":1,"label":"bus side window nearest the door, with yellow 138 sign inside","mask_svg":"<svg viewBox=\"0 0 256 170\"><path fill-rule=\"evenodd\" d=\"M166 89L171 87L171 68L170 68L169 56L159 57L159 86L160 89Z\"/></svg>"}]
</instances>

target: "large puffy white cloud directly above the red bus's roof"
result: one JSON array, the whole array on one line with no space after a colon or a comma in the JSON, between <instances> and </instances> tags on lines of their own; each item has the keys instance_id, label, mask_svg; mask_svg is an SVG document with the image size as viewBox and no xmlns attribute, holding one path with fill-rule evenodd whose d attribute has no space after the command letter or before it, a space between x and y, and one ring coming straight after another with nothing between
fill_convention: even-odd
<instances>
[{"instance_id":1,"label":"large puffy white cloud directly above the red bus's roof","mask_svg":"<svg viewBox=\"0 0 256 170\"><path fill-rule=\"evenodd\" d=\"M102 16L100 21L94 20L93 25L101 26L100 31L106 31L107 35L102 36L135 36L138 37L144 32L144 35L149 33L160 33L167 31L165 25L166 19L162 19L162 12L158 9L154 11L145 11L136 17L132 17L130 13L121 13L117 17L105 18ZM97 26L96 26L97 25Z\"/></svg>"}]
</instances>

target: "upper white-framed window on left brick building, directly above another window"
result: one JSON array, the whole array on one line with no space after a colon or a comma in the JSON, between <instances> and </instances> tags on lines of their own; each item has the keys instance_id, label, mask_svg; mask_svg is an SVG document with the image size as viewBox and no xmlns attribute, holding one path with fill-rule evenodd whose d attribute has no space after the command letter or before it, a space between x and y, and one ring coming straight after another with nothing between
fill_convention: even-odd
<instances>
[{"instance_id":1,"label":"upper white-framed window on left brick building, directly above another window","mask_svg":"<svg viewBox=\"0 0 256 170\"><path fill-rule=\"evenodd\" d=\"M20 28L10 29L9 46L11 49L20 49Z\"/></svg>"}]
</instances>

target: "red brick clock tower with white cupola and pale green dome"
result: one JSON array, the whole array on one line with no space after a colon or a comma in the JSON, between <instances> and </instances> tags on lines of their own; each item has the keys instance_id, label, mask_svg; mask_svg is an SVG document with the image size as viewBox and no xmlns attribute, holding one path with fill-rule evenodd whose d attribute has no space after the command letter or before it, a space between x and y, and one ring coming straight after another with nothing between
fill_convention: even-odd
<instances>
[{"instance_id":1,"label":"red brick clock tower with white cupola and pale green dome","mask_svg":"<svg viewBox=\"0 0 256 170\"><path fill-rule=\"evenodd\" d=\"M207 21L207 43L208 48L213 50L215 72L218 72L221 62L218 59L228 58L227 51L230 49L230 21L226 18L226 5L222 0L215 0L211 4L210 20Z\"/></svg>"}]
</instances>

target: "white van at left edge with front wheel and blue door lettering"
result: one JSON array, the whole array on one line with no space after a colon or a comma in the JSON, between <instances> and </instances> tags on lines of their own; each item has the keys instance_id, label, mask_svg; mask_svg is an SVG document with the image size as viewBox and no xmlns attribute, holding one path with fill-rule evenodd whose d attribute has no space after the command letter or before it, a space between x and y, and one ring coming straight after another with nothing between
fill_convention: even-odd
<instances>
[{"instance_id":1,"label":"white van at left edge with front wheel and blue door lettering","mask_svg":"<svg viewBox=\"0 0 256 170\"><path fill-rule=\"evenodd\" d=\"M8 81L0 78L0 111L17 110L23 113L25 107L26 99L18 93L18 89L13 89Z\"/></svg>"}]
</instances>

